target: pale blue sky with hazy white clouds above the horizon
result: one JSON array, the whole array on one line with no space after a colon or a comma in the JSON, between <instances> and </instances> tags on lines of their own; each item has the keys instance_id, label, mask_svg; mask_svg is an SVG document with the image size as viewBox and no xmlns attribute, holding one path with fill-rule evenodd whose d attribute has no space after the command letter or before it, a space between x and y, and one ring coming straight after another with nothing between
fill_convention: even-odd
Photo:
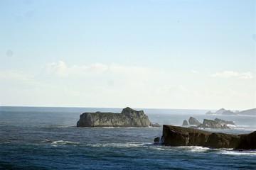
<instances>
[{"instance_id":1,"label":"pale blue sky with hazy white clouds above the horizon","mask_svg":"<svg viewBox=\"0 0 256 170\"><path fill-rule=\"evenodd\" d=\"M255 0L0 0L0 106L256 108Z\"/></svg>"}]
</instances>

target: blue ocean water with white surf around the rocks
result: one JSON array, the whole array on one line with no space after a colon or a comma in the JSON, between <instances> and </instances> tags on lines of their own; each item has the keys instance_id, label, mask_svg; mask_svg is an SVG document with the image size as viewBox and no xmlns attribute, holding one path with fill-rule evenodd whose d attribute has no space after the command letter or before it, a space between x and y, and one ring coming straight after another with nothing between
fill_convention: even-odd
<instances>
[{"instance_id":1,"label":"blue ocean water with white surf around the rocks","mask_svg":"<svg viewBox=\"0 0 256 170\"><path fill-rule=\"evenodd\" d=\"M206 110L144 110L152 123L182 125L193 116L233 120L230 134L256 130L256 116ZM162 128L77 128L80 114L122 108L0 107L0 169L256 169L256 151L154 145Z\"/></svg>"}]
</instances>

